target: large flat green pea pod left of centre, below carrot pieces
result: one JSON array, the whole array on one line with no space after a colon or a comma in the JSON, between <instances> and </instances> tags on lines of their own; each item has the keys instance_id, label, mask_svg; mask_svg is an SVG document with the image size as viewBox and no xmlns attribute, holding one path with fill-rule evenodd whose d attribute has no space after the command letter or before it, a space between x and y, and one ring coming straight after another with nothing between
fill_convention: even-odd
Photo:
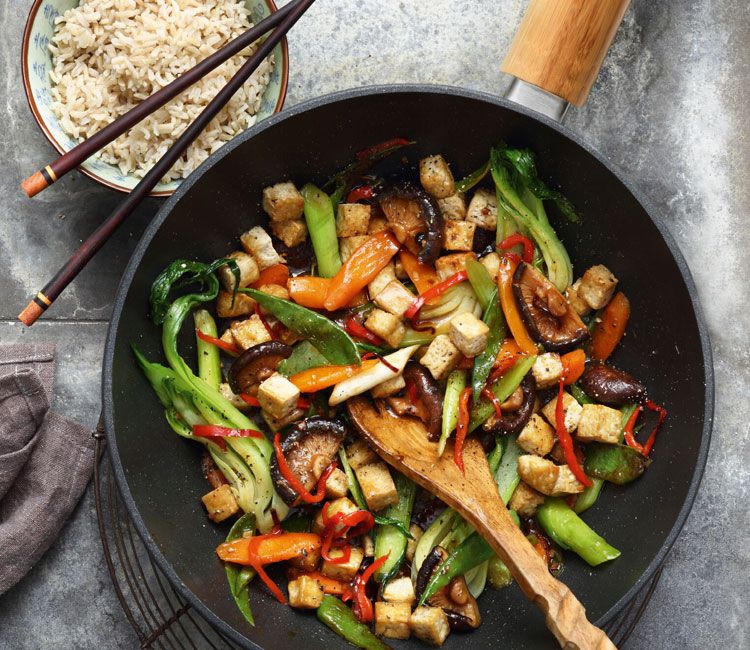
<instances>
[{"instance_id":1,"label":"large flat green pea pod left of centre, below carrot pieces","mask_svg":"<svg viewBox=\"0 0 750 650\"><path fill-rule=\"evenodd\" d=\"M295 334L310 341L330 363L348 365L361 362L354 341L329 318L257 289L240 291L257 301Z\"/></svg>"}]
</instances>

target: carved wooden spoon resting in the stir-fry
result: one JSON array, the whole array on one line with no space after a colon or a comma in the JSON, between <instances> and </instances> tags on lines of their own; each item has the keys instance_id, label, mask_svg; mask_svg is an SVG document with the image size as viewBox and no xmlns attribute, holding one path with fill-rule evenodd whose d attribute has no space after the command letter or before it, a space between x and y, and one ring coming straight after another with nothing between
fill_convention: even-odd
<instances>
[{"instance_id":1,"label":"carved wooden spoon resting in the stir-fry","mask_svg":"<svg viewBox=\"0 0 750 650\"><path fill-rule=\"evenodd\" d=\"M416 418L400 418L365 397L347 402L352 422L375 451L399 472L442 499L484 537L505 562L521 590L546 617L547 627L566 650L605 650L615 645L586 619L573 592L555 579L500 500L482 446L466 440L465 474L453 462L453 444L442 457L437 443ZM615 648L616 650L616 648Z\"/></svg>"}]
</instances>

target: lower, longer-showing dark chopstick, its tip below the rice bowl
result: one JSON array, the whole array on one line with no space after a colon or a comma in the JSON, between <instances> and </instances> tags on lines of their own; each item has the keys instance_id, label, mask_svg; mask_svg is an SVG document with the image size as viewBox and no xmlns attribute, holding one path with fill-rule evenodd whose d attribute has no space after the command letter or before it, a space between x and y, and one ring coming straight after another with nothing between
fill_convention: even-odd
<instances>
[{"instance_id":1,"label":"lower, longer-showing dark chopstick, its tip below the rice bowl","mask_svg":"<svg viewBox=\"0 0 750 650\"><path fill-rule=\"evenodd\" d=\"M278 42L286 35L291 27L307 11L315 0L299 0L279 23L278 27L270 36L258 46L253 54L242 67L234 74L226 86L208 103L203 112L190 124L180 135L167 152L156 162L149 172L141 179L130 194L120 203L102 224L89 236L86 241L76 250L65 265L55 274L44 288L29 302L26 308L18 315L18 319L27 326L33 325L36 320L47 310L55 299L63 292L73 279L80 273L81 269L96 255L97 251L106 243L117 227L125 221L136 206L154 188L169 168L184 153L188 146L195 140L200 132L216 116L216 114L229 101L247 81L248 77L268 56Z\"/></svg>"}]
</instances>

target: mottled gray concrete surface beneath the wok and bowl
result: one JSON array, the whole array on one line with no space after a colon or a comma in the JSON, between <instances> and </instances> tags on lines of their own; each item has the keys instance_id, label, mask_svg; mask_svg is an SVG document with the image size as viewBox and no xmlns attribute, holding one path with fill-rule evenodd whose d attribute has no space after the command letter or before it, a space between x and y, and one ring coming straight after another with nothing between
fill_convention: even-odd
<instances>
[{"instance_id":1,"label":"mottled gray concrete surface beneath the wok and bowl","mask_svg":"<svg viewBox=\"0 0 750 650\"><path fill-rule=\"evenodd\" d=\"M0 6L0 340L55 341L56 407L93 426L114 288L159 204L140 208L44 322L27 331L15 321L30 292L120 198L77 173L34 200L18 189L53 153L21 86L30 5ZM370 83L501 93L508 80L499 64L524 6L320 0L290 39L287 105ZM747 0L633 0L589 102L567 119L667 216L695 276L716 362L716 427L703 485L630 648L750 647L749 87ZM0 647L137 647L103 565L90 492L58 543L0 598Z\"/></svg>"}]
</instances>

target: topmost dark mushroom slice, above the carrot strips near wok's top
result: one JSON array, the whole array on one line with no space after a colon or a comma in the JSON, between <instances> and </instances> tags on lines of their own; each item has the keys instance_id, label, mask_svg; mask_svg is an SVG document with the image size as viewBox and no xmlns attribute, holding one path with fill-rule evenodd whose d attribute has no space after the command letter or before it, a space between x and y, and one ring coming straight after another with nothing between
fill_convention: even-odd
<instances>
[{"instance_id":1,"label":"topmost dark mushroom slice, above the carrot strips near wok's top","mask_svg":"<svg viewBox=\"0 0 750 650\"><path fill-rule=\"evenodd\" d=\"M388 227L423 264L443 249L443 214L437 201L412 183L400 183L378 197Z\"/></svg>"}]
</instances>

